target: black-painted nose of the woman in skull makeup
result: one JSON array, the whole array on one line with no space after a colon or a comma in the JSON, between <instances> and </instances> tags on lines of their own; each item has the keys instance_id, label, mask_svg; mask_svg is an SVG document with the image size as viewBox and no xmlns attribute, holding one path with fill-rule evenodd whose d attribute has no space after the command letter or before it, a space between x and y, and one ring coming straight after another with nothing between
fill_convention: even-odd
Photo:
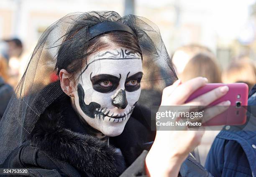
<instances>
[{"instance_id":1,"label":"black-painted nose of the woman in skull makeup","mask_svg":"<svg viewBox=\"0 0 256 177\"><path fill-rule=\"evenodd\" d=\"M126 99L126 94L125 94L125 90L123 90L122 88L120 88L115 96L112 99L112 104L114 106L116 106L118 109L125 109L128 102Z\"/></svg>"}]
</instances>

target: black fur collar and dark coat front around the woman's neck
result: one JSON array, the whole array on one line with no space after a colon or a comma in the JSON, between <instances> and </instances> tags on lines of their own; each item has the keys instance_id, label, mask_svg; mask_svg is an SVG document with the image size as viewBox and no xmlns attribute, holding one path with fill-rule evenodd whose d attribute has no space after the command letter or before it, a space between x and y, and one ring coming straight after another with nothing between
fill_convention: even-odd
<instances>
[{"instance_id":1,"label":"black fur collar and dark coat front around the woman's neck","mask_svg":"<svg viewBox=\"0 0 256 177\"><path fill-rule=\"evenodd\" d=\"M52 157L71 164L82 176L115 177L144 149L150 148L147 142L153 141L155 132L150 131L143 116L148 116L147 112L137 105L123 133L110 137L112 145L108 146L91 135L92 129L80 121L69 96L63 93L41 114L29 140ZM116 152L115 147L123 156Z\"/></svg>"}]
</instances>

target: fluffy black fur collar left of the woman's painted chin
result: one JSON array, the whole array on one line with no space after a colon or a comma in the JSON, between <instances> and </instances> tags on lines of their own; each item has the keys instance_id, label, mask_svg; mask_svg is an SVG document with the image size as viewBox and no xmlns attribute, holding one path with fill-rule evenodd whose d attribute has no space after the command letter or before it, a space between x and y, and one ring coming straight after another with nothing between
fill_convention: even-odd
<instances>
[{"instance_id":1,"label":"fluffy black fur collar left of the woman's painted chin","mask_svg":"<svg viewBox=\"0 0 256 177\"><path fill-rule=\"evenodd\" d=\"M125 160L112 146L87 133L65 94L41 114L31 144L52 157L69 162L81 174L115 177L125 170Z\"/></svg>"}]
</instances>

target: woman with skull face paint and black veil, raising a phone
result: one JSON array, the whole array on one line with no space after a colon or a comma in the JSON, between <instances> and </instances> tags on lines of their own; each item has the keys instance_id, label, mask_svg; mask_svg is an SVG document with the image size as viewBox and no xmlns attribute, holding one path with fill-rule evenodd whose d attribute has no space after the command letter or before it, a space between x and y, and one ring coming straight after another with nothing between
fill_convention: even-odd
<instances>
[{"instance_id":1,"label":"woman with skull face paint and black veil, raising a phone","mask_svg":"<svg viewBox=\"0 0 256 177\"><path fill-rule=\"evenodd\" d=\"M59 80L35 84L52 66ZM164 89L161 105L176 106L207 83L176 80L151 21L108 11L69 14L39 39L0 122L0 167L28 169L26 176L211 176L187 157L202 131L151 131L152 104L141 101L142 86L154 83ZM208 105L226 92L217 88L186 105Z\"/></svg>"}]
</instances>

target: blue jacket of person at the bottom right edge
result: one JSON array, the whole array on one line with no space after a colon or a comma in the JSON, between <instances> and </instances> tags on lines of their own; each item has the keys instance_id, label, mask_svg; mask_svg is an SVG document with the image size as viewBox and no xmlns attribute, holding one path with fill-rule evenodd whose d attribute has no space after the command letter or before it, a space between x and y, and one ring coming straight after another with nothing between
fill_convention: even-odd
<instances>
[{"instance_id":1,"label":"blue jacket of person at the bottom right edge","mask_svg":"<svg viewBox=\"0 0 256 177\"><path fill-rule=\"evenodd\" d=\"M256 85L249 94L247 122L256 119L255 108ZM231 129L237 130L237 126ZM256 177L256 131L220 131L208 153L205 168L214 177Z\"/></svg>"}]
</instances>

